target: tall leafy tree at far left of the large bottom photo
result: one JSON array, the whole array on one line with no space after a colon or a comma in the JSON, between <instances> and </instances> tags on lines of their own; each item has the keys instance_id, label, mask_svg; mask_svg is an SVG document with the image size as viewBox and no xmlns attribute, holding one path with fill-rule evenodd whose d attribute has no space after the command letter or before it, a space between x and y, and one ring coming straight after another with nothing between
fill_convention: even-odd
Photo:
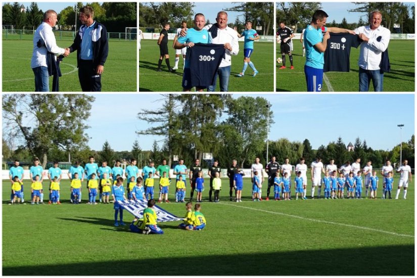
<instances>
[{"instance_id":1,"label":"tall leafy tree at far left of the large bottom photo","mask_svg":"<svg viewBox=\"0 0 417 278\"><path fill-rule=\"evenodd\" d=\"M87 95L4 95L4 134L18 138L45 167L53 147L72 152L88 142L85 130L95 98Z\"/></svg>"}]
</instances>

